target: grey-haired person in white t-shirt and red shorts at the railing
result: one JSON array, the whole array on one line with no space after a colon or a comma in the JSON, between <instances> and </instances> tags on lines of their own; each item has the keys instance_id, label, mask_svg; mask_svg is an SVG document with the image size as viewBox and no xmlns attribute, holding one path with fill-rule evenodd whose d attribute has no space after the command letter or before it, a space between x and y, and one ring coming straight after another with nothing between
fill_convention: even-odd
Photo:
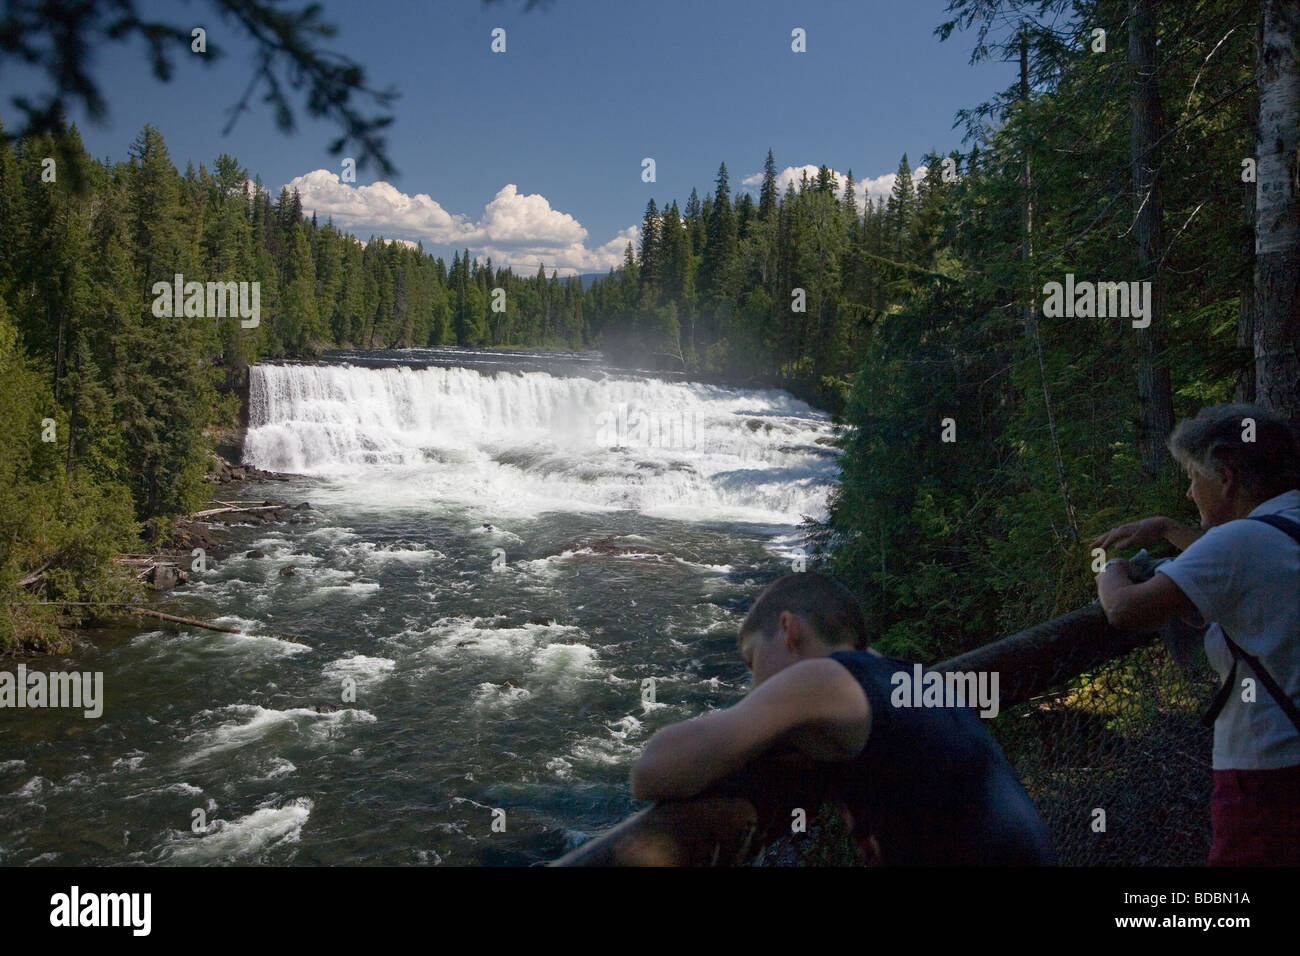
<instances>
[{"instance_id":1,"label":"grey-haired person in white t-shirt and red shorts at the railing","mask_svg":"<svg viewBox=\"0 0 1300 956\"><path fill-rule=\"evenodd\" d=\"M1165 538L1182 554L1150 580L1106 562L1097 596L1121 630L1209 622L1221 678L1214 722L1212 866L1300 865L1300 438L1258 406L1204 408L1170 436L1201 528L1147 518L1093 548ZM1271 527L1270 527L1271 525Z\"/></svg>"}]
</instances>

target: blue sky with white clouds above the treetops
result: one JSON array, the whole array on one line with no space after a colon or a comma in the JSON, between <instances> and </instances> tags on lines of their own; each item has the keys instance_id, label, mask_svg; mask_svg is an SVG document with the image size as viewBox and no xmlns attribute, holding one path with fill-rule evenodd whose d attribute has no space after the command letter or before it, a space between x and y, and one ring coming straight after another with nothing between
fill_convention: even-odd
<instances>
[{"instance_id":1,"label":"blue sky with white clouds above the treetops","mask_svg":"<svg viewBox=\"0 0 1300 956\"><path fill-rule=\"evenodd\" d=\"M228 111L252 75L248 46L203 3L142 3L177 23L203 26L229 56L211 68L187 48L170 83L151 74L140 44L95 51L109 101L103 126L74 113L87 148L125 159L146 122L166 138L179 169L234 155L273 193L291 183L304 206L365 239L420 239L445 255L468 247L516 272L606 272L636 238L653 196L685 203L714 189L727 163L732 189L760 173L768 147L779 169L827 164L872 191L888 190L900 156L961 146L958 109L1008 86L1013 64L971 66L974 36L940 43L946 0L523 0L354 3L325 0L338 26L326 44L400 99L389 130L399 174L339 182L328 152L338 129L309 120L276 129L255 104L230 135ZM506 52L490 49L506 30ZM807 52L790 49L802 27ZM30 74L0 75L9 96ZM260 95L260 94L259 94ZM641 161L656 181L642 182ZM757 191L757 185L753 186Z\"/></svg>"}]
</instances>

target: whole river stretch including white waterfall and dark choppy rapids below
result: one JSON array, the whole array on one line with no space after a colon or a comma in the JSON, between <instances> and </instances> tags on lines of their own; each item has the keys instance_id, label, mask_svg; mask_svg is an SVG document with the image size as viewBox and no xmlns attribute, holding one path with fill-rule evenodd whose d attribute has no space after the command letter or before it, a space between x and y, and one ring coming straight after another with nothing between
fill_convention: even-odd
<instances>
[{"instance_id":1,"label":"whole river stretch including white waterfall and dark choppy rapids below","mask_svg":"<svg viewBox=\"0 0 1300 956\"><path fill-rule=\"evenodd\" d=\"M837 476L827 416L417 358L252 369L244 460L298 477L217 497L311 510L231 528L168 596L242 633L27 662L103 671L107 701L0 710L0 864L550 860L637 808L656 728L744 693L740 617Z\"/></svg>"}]
</instances>

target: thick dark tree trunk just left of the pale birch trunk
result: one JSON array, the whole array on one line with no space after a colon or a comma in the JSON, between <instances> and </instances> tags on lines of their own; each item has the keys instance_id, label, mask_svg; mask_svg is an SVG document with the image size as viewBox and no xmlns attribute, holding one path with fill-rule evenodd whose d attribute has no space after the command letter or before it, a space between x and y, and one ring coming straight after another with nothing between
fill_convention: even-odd
<instances>
[{"instance_id":1,"label":"thick dark tree trunk just left of the pale birch trunk","mask_svg":"<svg viewBox=\"0 0 1300 956\"><path fill-rule=\"evenodd\" d=\"M1143 472L1157 477L1170 457L1165 440L1174 429L1174 397L1164 364L1165 282L1160 267L1165 215L1160 183L1161 104L1156 81L1156 20L1152 0L1128 0L1128 64L1134 69L1132 112L1134 235L1140 281L1150 282L1149 325L1138 329L1138 447Z\"/></svg>"}]
</instances>

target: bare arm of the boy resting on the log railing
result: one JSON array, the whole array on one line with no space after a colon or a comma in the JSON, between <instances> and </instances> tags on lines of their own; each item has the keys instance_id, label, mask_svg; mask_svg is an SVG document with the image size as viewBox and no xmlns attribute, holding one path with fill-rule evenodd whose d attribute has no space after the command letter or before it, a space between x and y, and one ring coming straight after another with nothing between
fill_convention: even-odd
<instances>
[{"instance_id":1,"label":"bare arm of the boy resting on the log railing","mask_svg":"<svg viewBox=\"0 0 1300 956\"><path fill-rule=\"evenodd\" d=\"M786 735L816 760L850 760L867 743L870 718L867 696L846 667L829 658L801 661L740 704L655 734L632 767L632 796L693 796Z\"/></svg>"}]
</instances>

